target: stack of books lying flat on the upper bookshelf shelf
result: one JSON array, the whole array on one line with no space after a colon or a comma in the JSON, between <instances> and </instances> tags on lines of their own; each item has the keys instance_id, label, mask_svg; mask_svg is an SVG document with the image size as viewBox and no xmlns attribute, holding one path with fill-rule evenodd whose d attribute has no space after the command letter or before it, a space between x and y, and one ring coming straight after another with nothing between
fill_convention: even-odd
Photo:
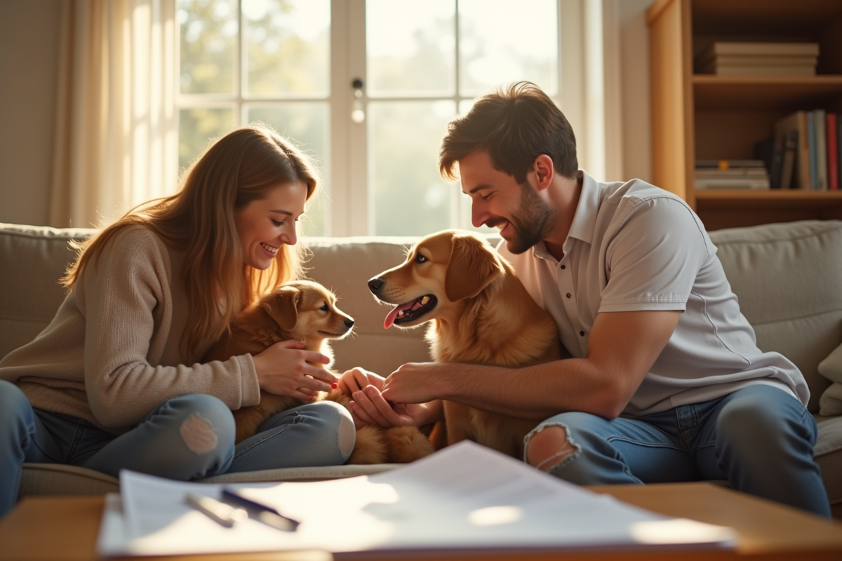
<instances>
[{"instance_id":1,"label":"stack of books lying flat on the upper bookshelf shelf","mask_svg":"<svg viewBox=\"0 0 842 561\"><path fill-rule=\"evenodd\" d=\"M813 76L818 43L717 41L695 57L696 72L718 76Z\"/></svg>"}]
</instances>

